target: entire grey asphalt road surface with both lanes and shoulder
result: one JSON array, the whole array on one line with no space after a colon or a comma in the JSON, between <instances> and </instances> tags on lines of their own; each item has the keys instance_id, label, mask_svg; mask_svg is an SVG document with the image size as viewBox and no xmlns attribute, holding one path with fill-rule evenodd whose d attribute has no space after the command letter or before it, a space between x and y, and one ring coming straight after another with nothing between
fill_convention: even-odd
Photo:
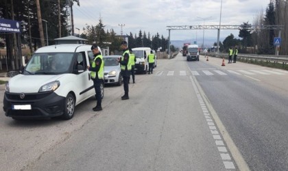
<instances>
[{"instance_id":1,"label":"entire grey asphalt road surface with both lanes and shoulder","mask_svg":"<svg viewBox=\"0 0 288 171\"><path fill-rule=\"evenodd\" d=\"M179 54L136 75L128 101L106 86L97 113L94 98L67 121L2 111L1 170L287 170L287 75Z\"/></svg>"}]
</instances>

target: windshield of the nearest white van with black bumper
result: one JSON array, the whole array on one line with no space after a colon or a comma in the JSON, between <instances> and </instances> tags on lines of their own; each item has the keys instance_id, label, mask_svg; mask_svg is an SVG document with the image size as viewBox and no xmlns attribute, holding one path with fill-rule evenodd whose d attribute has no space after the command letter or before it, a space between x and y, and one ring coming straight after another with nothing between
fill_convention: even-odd
<instances>
[{"instance_id":1,"label":"windshield of the nearest white van with black bumper","mask_svg":"<svg viewBox=\"0 0 288 171\"><path fill-rule=\"evenodd\" d=\"M67 73L74 53L35 53L25 67L24 74L58 75Z\"/></svg>"}]
</instances>

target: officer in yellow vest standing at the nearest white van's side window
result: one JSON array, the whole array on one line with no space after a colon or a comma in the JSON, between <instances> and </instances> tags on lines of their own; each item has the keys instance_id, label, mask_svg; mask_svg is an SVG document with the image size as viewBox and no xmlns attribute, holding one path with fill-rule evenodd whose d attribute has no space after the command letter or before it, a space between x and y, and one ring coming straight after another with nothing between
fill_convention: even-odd
<instances>
[{"instance_id":1,"label":"officer in yellow vest standing at the nearest white van's side window","mask_svg":"<svg viewBox=\"0 0 288 171\"><path fill-rule=\"evenodd\" d=\"M91 47L92 53L94 55L94 59L92 61L91 67L88 66L88 70L91 71L91 78L94 83L94 88L96 92L96 99L97 99L97 105L93 107L93 111L101 111L101 83L104 79L104 61L103 57L98 49L97 44L93 44Z\"/></svg>"}]
</instances>

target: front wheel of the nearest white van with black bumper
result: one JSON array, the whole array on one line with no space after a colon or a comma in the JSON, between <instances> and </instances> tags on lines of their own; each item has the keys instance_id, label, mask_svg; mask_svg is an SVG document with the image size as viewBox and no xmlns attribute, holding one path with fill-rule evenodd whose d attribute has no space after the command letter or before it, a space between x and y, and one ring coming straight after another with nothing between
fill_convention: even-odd
<instances>
[{"instance_id":1,"label":"front wheel of the nearest white van with black bumper","mask_svg":"<svg viewBox=\"0 0 288 171\"><path fill-rule=\"evenodd\" d=\"M69 120L73 118L74 111L75 111L75 98L71 93L69 93L65 100L64 114L62 115L62 119Z\"/></svg>"}]
</instances>

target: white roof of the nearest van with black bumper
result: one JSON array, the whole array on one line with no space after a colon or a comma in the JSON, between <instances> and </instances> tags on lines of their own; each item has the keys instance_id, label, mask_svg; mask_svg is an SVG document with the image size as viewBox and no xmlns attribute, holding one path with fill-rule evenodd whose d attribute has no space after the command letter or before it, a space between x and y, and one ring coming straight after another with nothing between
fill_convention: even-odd
<instances>
[{"instance_id":1,"label":"white roof of the nearest van with black bumper","mask_svg":"<svg viewBox=\"0 0 288 171\"><path fill-rule=\"evenodd\" d=\"M49 53L49 52L75 52L75 51L84 51L87 49L91 50L89 44L54 44L47 47L41 47L35 51L35 53Z\"/></svg>"}]
</instances>

